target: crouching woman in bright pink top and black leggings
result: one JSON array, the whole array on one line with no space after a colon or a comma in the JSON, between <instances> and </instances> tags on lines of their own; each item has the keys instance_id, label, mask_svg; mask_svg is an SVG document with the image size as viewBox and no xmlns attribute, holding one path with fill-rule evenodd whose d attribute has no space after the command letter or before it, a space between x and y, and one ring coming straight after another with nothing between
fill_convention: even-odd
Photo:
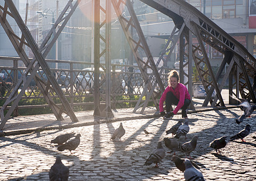
<instances>
[{"instance_id":1,"label":"crouching woman in bright pink top and black leggings","mask_svg":"<svg viewBox=\"0 0 256 181\"><path fill-rule=\"evenodd\" d=\"M166 87L159 101L160 114L164 116L164 119L171 119L172 116L176 115L180 109L182 109L182 118L188 118L186 115L186 109L191 103L190 95L186 86L182 83L179 83L179 79L179 73L176 70L169 72L169 85ZM166 113L163 110L164 101L166 105ZM170 112L172 104L176 105L176 109Z\"/></svg>"}]
</instances>

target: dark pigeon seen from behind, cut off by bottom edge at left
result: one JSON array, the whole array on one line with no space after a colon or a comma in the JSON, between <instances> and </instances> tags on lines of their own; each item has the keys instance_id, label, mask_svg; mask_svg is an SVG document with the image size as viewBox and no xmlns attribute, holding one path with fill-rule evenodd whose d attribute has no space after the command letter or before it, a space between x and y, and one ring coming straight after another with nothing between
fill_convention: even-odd
<instances>
[{"instance_id":1,"label":"dark pigeon seen from behind, cut off by bottom edge at left","mask_svg":"<svg viewBox=\"0 0 256 181\"><path fill-rule=\"evenodd\" d=\"M56 161L51 166L51 169L49 171L49 178L50 181L56 181L56 180L68 180L68 176L70 174L70 170L67 166L62 164L61 157L56 156Z\"/></svg>"}]
</instances>

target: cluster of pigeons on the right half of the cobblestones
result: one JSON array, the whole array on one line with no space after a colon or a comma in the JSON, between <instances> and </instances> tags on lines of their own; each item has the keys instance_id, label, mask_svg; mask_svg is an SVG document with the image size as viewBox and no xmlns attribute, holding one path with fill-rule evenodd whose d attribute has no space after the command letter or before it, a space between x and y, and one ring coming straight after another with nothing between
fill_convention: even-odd
<instances>
[{"instance_id":1,"label":"cluster of pigeons on the right half of the cobblestones","mask_svg":"<svg viewBox=\"0 0 256 181\"><path fill-rule=\"evenodd\" d=\"M240 101L240 108L244 111L243 115L241 115L239 118L235 119L235 122L237 124L240 124L243 122L243 119L249 117L251 113L256 110L256 106L251 106L247 100L239 100ZM172 125L171 129L166 131L166 135L172 134L174 138L163 138L163 142L165 143L165 146L169 148L169 150L174 152L174 155L172 156L172 161L176 165L176 167L184 173L185 180L205 180L203 178L203 174L200 171L200 168L193 162L190 156L190 153L195 150L195 147L197 146L197 139L199 136L195 135L191 141L185 142L181 144L179 142L180 136L185 136L189 132L189 125L188 125L188 119L185 120L185 122L182 124L183 121L177 122L177 124ZM229 141L234 141L235 139L241 139L242 142L244 142L244 138L249 135L251 131L251 125L247 124L245 129L238 132L236 135L231 136ZM146 131L144 131L146 133ZM256 136L252 137L255 138ZM220 149L226 147L227 144L227 136L222 136L220 138L214 139L212 142L209 143L209 147L214 148L216 153L220 154ZM182 159L179 156L176 156L176 151L182 151L185 153L186 158ZM156 164L156 167L158 167L159 162L165 157L165 150L162 147L162 142L159 141L157 144L157 148L152 151L150 156L145 162L145 165L151 165Z\"/></svg>"}]
</instances>

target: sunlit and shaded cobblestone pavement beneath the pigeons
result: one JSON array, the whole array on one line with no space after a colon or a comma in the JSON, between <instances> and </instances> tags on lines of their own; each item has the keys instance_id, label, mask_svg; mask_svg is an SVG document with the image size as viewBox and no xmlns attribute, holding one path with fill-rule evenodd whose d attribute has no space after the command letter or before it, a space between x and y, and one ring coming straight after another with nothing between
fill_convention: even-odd
<instances>
[{"instance_id":1,"label":"sunlit and shaded cobblestone pavement beneath the pigeons","mask_svg":"<svg viewBox=\"0 0 256 181\"><path fill-rule=\"evenodd\" d=\"M238 125L234 120L241 113L236 108L188 115L188 138L185 140L182 136L179 141L186 142L199 135L197 147L191 156L201 167L206 180L256 180L256 142L252 138L256 135L256 115L252 114L252 118L246 118ZM181 115L176 115L171 120L151 118L122 121L126 130L122 141L110 141L111 133L119 127L118 121L2 137L0 180L48 180L48 171L57 155L70 168L69 180L185 180L183 173L171 161L170 153L166 153L159 168L144 165L157 142L167 137L165 131L180 118ZM252 127L250 135L245 138L246 142L228 142L221 150L222 156L208 147L213 139L223 135L229 139L246 124ZM145 135L144 129L150 134ZM73 154L67 150L57 151L50 144L51 139L68 132L82 135L80 145ZM168 148L164 148L168 151ZM185 157L181 152L177 152L177 155Z\"/></svg>"}]
</instances>

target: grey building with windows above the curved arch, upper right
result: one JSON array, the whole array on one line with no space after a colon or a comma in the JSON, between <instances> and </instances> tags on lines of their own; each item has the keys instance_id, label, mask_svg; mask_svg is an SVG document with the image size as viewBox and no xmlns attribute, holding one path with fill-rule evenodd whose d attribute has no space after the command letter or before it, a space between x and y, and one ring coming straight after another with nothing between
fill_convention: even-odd
<instances>
[{"instance_id":1,"label":"grey building with windows above the curved arch, upper right","mask_svg":"<svg viewBox=\"0 0 256 181\"><path fill-rule=\"evenodd\" d=\"M187 0L202 11L215 24L229 33L256 57L256 16L252 11L255 0ZM255 19L256 20L256 19ZM218 52L211 49L211 59L220 58Z\"/></svg>"}]
</instances>

